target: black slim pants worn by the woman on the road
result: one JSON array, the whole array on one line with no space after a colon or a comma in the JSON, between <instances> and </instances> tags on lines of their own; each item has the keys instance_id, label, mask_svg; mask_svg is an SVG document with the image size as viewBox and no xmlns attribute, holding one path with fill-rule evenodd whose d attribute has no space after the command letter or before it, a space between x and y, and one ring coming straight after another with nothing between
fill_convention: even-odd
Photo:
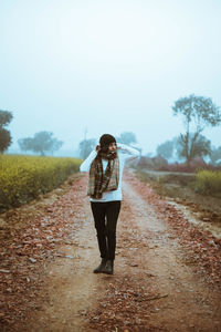
<instances>
[{"instance_id":1,"label":"black slim pants worn by the woman on the road","mask_svg":"<svg viewBox=\"0 0 221 332\"><path fill-rule=\"evenodd\" d=\"M102 258L115 259L116 226L120 205L120 200L91 201Z\"/></svg>"}]
</instances>

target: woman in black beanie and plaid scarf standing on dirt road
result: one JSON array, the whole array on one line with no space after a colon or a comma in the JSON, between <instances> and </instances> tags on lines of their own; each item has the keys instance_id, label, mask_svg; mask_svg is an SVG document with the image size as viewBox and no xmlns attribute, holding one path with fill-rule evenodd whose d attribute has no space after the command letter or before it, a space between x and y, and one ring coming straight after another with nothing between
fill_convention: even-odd
<instances>
[{"instance_id":1,"label":"woman in black beanie and plaid scarf standing on dirt road","mask_svg":"<svg viewBox=\"0 0 221 332\"><path fill-rule=\"evenodd\" d=\"M117 143L114 136L104 134L99 145L80 167L88 172L87 195L97 232L102 262L94 273L113 274L116 249L116 226L122 204L122 176L125 160L136 158L139 152Z\"/></svg>"}]
</instances>

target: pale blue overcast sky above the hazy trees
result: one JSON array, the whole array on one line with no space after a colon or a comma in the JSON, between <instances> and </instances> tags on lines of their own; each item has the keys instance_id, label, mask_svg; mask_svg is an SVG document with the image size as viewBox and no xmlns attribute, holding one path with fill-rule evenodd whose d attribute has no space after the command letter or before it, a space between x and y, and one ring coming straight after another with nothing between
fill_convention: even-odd
<instances>
[{"instance_id":1,"label":"pale blue overcast sky above the hazy trees","mask_svg":"<svg viewBox=\"0 0 221 332\"><path fill-rule=\"evenodd\" d=\"M135 133L143 153L183 131L171 106L221 106L220 0L1 0L0 110L13 148L50 131L75 149ZM221 145L221 127L203 134Z\"/></svg>"}]
</instances>

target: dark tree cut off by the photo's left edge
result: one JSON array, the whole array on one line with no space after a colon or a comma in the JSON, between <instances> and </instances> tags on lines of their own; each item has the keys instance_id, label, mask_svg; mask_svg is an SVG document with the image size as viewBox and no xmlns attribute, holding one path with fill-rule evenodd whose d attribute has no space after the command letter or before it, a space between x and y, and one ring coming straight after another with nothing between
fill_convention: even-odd
<instances>
[{"instance_id":1,"label":"dark tree cut off by the photo's left edge","mask_svg":"<svg viewBox=\"0 0 221 332\"><path fill-rule=\"evenodd\" d=\"M4 127L12 121L13 115L9 111L0 111L0 153L3 153L12 143L11 134Z\"/></svg>"}]
</instances>

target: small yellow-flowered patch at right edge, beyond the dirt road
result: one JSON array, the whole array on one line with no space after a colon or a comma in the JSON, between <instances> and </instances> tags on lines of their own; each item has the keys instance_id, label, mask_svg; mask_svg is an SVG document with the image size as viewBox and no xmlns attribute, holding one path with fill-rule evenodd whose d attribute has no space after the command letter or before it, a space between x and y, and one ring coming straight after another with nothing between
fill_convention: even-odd
<instances>
[{"instance_id":1,"label":"small yellow-flowered patch at right edge, beyond the dirt road","mask_svg":"<svg viewBox=\"0 0 221 332\"><path fill-rule=\"evenodd\" d=\"M196 178L197 190L200 194L221 195L221 170L200 170Z\"/></svg>"}]
</instances>

